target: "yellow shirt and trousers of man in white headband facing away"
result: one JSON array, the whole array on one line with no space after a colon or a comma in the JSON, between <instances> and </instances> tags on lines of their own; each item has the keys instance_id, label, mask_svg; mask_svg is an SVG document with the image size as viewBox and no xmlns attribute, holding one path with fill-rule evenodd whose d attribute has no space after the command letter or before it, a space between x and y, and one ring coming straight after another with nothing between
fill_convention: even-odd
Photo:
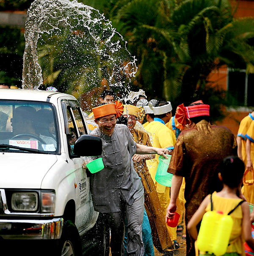
<instances>
[{"instance_id":1,"label":"yellow shirt and trousers of man in white headband facing away","mask_svg":"<svg viewBox=\"0 0 254 256\"><path fill-rule=\"evenodd\" d=\"M161 122L152 121L145 127L146 131L148 131L152 135L152 146L167 148L173 147L176 143L176 136L173 131L168 129L166 125ZM155 159L146 160L146 165L151 173L152 179L155 182L157 194L160 200L160 205L166 215L166 209L168 207L170 201L170 188L167 186L163 186L155 181L155 173L157 170L157 166L159 163L159 156L156 155ZM172 240L177 239L177 228L168 227L168 231L171 234Z\"/></svg>"}]
</instances>

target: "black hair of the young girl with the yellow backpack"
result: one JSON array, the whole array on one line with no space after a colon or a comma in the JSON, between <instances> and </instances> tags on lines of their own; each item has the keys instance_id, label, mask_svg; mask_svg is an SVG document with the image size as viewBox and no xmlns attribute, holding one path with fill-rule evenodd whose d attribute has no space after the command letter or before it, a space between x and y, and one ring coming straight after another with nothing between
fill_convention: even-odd
<instances>
[{"instance_id":1,"label":"black hair of the young girl with the yellow backpack","mask_svg":"<svg viewBox=\"0 0 254 256\"><path fill-rule=\"evenodd\" d=\"M237 156L227 156L221 162L222 182L234 189L240 185L245 171L243 161Z\"/></svg>"}]
</instances>

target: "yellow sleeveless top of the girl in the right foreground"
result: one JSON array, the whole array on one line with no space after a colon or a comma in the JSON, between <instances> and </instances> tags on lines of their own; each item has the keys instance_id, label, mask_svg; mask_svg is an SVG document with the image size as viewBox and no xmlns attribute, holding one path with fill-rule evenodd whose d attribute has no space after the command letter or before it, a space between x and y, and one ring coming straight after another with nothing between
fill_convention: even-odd
<instances>
[{"instance_id":1,"label":"yellow sleeveless top of the girl in the right foreground","mask_svg":"<svg viewBox=\"0 0 254 256\"><path fill-rule=\"evenodd\" d=\"M236 198L222 198L214 192L212 196L213 200L213 209L215 211L223 211L224 214L228 214L229 211L235 208L242 199ZM206 211L211 210L211 204L207 206ZM231 231L229 246L226 253L238 253L245 255L243 248L243 238L242 238L242 221L243 221L243 212L241 206L238 206L235 211L230 214L233 219L233 228Z\"/></svg>"}]
</instances>

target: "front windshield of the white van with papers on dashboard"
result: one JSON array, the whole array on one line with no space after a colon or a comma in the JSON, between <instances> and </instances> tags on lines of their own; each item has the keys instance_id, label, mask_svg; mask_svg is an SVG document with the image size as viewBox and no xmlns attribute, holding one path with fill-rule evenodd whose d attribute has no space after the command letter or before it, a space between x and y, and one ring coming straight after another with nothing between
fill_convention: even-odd
<instances>
[{"instance_id":1,"label":"front windshield of the white van with papers on dashboard","mask_svg":"<svg viewBox=\"0 0 254 256\"><path fill-rule=\"evenodd\" d=\"M1 151L58 153L58 129L52 104L0 100Z\"/></svg>"}]
</instances>

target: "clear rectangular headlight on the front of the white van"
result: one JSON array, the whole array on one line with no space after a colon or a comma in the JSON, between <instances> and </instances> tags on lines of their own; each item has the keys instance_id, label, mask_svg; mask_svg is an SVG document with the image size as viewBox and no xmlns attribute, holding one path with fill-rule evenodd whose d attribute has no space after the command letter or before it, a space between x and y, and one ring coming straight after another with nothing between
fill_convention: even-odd
<instances>
[{"instance_id":1,"label":"clear rectangular headlight on the front of the white van","mask_svg":"<svg viewBox=\"0 0 254 256\"><path fill-rule=\"evenodd\" d=\"M38 194L36 192L14 192L11 196L11 208L14 211L37 211Z\"/></svg>"}]
</instances>

